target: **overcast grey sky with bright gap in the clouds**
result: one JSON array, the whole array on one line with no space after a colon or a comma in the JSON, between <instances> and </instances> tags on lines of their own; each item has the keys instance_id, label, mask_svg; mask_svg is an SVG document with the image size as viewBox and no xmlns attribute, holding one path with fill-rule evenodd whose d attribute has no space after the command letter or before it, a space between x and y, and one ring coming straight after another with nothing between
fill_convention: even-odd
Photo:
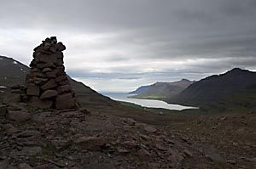
<instances>
[{"instance_id":1,"label":"overcast grey sky with bright gap in the clouds","mask_svg":"<svg viewBox=\"0 0 256 169\"><path fill-rule=\"evenodd\" d=\"M0 0L0 55L29 65L56 36L67 74L96 91L256 70L255 0Z\"/></svg>"}]
</instances>

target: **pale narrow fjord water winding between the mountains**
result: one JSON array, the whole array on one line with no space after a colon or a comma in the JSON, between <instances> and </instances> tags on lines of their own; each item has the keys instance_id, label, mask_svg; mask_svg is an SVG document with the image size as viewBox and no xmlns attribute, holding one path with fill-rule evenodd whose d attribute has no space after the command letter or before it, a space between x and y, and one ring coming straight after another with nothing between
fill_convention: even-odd
<instances>
[{"instance_id":1,"label":"pale narrow fjord water winding between the mountains","mask_svg":"<svg viewBox=\"0 0 256 169\"><path fill-rule=\"evenodd\" d=\"M129 96L132 96L132 94L128 94L128 93L102 93L102 94L114 100L130 102L133 104L139 104L143 107L148 107L148 108L163 108L168 110L197 109L195 107L183 106L179 104L167 104L164 101L154 100L154 99L132 99L132 98L128 98Z\"/></svg>"}]
</instances>

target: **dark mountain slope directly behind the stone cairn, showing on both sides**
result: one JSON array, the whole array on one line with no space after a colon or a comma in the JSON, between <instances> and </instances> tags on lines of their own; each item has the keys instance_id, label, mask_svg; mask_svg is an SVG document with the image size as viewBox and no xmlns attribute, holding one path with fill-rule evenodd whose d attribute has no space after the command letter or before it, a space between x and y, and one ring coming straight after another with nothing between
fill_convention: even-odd
<instances>
[{"instance_id":1,"label":"dark mountain slope directly behind the stone cairn, showing on both sides","mask_svg":"<svg viewBox=\"0 0 256 169\"><path fill-rule=\"evenodd\" d=\"M21 64L15 59L0 56L0 86L11 87L14 84L24 84L29 70L28 66ZM77 82L71 77L69 77L69 80L79 98L80 104L116 104L112 99L96 93L96 91L85 86L82 82Z\"/></svg>"}]
</instances>

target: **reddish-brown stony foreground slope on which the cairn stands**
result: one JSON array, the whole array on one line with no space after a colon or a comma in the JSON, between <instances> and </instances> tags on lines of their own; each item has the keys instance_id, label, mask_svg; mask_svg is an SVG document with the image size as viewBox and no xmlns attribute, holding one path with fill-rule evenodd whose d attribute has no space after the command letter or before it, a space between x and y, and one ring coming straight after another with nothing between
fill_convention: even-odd
<instances>
[{"instance_id":1,"label":"reddish-brown stony foreground slope on which the cairn stands","mask_svg":"<svg viewBox=\"0 0 256 169\"><path fill-rule=\"evenodd\" d=\"M96 111L2 105L0 131L1 169L229 166L216 149L170 127Z\"/></svg>"}]
</instances>

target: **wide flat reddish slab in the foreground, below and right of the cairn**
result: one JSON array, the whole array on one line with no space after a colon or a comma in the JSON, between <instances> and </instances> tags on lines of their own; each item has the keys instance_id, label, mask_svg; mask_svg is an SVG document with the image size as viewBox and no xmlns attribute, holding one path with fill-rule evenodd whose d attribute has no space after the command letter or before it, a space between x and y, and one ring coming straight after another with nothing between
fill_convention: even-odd
<instances>
[{"instance_id":1,"label":"wide flat reddish slab in the foreground, below and right of the cairn","mask_svg":"<svg viewBox=\"0 0 256 169\"><path fill-rule=\"evenodd\" d=\"M102 147L107 144L107 141L105 138L83 136L75 139L73 143L82 149L102 149Z\"/></svg>"}]
</instances>

